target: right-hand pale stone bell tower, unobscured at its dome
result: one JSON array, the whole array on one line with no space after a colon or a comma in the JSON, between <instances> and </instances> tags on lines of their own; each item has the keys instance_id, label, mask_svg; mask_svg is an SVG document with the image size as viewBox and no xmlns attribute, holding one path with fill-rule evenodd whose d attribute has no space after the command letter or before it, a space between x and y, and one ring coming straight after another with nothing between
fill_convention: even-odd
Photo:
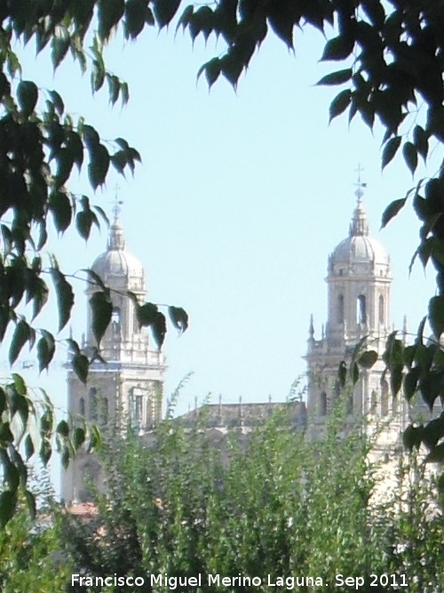
<instances>
[{"instance_id":1,"label":"right-hand pale stone bell tower, unobscured at its dome","mask_svg":"<svg viewBox=\"0 0 444 593\"><path fill-rule=\"evenodd\" d=\"M312 436L322 426L341 389L337 370L341 361L349 362L356 344L366 338L366 347L379 357L370 369L361 371L353 394L348 397L347 413L371 422L395 412L383 380L382 354L390 333L390 257L377 239L370 235L369 222L362 204L361 168L355 192L357 203L348 236L328 260L328 317L321 339L314 335L313 318L307 342L307 412Z\"/></svg>"}]
</instances>

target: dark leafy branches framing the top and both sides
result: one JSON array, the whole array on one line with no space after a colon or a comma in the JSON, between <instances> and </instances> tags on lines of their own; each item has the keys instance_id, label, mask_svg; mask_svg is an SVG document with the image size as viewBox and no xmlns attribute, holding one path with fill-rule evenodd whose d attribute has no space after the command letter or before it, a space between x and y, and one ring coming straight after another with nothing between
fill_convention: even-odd
<instances>
[{"instance_id":1,"label":"dark leafy branches framing the top and both sides","mask_svg":"<svg viewBox=\"0 0 444 593\"><path fill-rule=\"evenodd\" d=\"M163 28L178 16L178 27L186 29L195 39L221 36L226 51L202 66L209 84L220 75L234 86L248 67L258 46L271 30L287 44L294 46L297 28L313 27L333 32L325 45L323 60L345 61L344 68L324 76L320 84L345 85L330 106L330 119L348 110L349 119L360 114L373 127L379 121L385 128L383 166L389 164L400 150L414 173L418 158L424 161L431 141L444 140L444 87L442 82L444 41L444 8L433 0L413 0L383 3L378 0L220 0L211 4L187 5L180 0L28 0L5 2L0 9L0 179L2 200L3 259L2 293L0 302L0 338L8 325L14 325L10 349L13 362L25 344L33 346L38 337L37 356L41 368L51 362L55 339L45 330L37 330L16 309L24 299L33 305L36 317L48 298L44 282L46 271L40 250L47 239L47 217L51 214L55 228L64 232L75 219L81 236L87 238L91 226L99 224L97 206L91 207L87 196L72 196L66 183L76 166L84 166L88 156L88 177L93 189L101 186L112 165L118 172L134 170L139 153L123 139L116 139L111 151L100 140L99 133L82 118L74 122L65 114L63 100L54 90L44 91L36 83L22 77L20 60L14 52L18 41L36 44L37 52L51 48L54 68L71 55L83 72L89 71L93 92L107 84L110 101L128 100L128 87L107 72L103 49L114 28L123 27L128 39L136 39L145 28ZM91 29L97 28L92 35ZM88 40L88 41L86 41ZM88 45L88 48L86 47ZM424 117L416 120L418 103L424 105ZM43 105L44 103L44 105ZM432 407L443 396L444 363L440 350L440 335L444 329L444 172L418 183L413 194L413 206L422 222L421 242L416 255L424 266L429 260L437 269L438 293L429 305L429 322L436 343L423 343L422 324L416 343L400 356L399 341L389 342L386 362L393 375L395 393L401 385L410 393L419 390ZM383 224L406 203L401 198L385 211ZM34 257L29 258L29 252ZM73 295L67 276L52 260L47 270L52 276L59 297L59 325L66 325L73 305ZM96 297L99 299L99 297ZM102 301L107 302L104 292ZM139 323L149 308L139 315ZM104 305L103 310L109 310ZM161 314L163 315L163 314ZM108 316L108 313L107 313ZM174 317L174 315L173 315ZM186 319L186 317L182 317ZM163 337L164 324L157 316L148 317L148 325L157 327ZM99 327L105 325L100 321ZM161 324L162 322L162 324ZM183 324L178 323L183 329ZM90 360L78 345L71 344L77 357L76 368L85 379ZM85 371L86 370L86 371ZM20 455L11 439L8 414L11 397L16 396L17 381L0 397L4 402L4 418L0 445L3 458L11 467ZM21 384L21 383L20 383ZM20 394L26 397L26 394ZM21 400L20 400L21 401ZM28 401L28 400L27 400ZM418 432L412 433L412 429ZM64 429L65 430L65 429ZM411 427L407 435L409 446L424 442L432 445L433 459L444 457L444 421L425 427ZM46 453L44 453L45 455ZM9 466L8 466L9 467ZM23 476L20 478L23 481ZM0 515L11 509L14 496L3 493ZM8 511L9 512L9 511Z\"/></svg>"}]
</instances>

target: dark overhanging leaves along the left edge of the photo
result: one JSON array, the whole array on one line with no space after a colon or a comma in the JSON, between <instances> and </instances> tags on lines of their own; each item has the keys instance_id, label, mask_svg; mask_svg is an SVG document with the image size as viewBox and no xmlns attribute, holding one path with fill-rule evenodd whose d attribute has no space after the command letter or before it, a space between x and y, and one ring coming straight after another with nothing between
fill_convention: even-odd
<instances>
[{"instance_id":1,"label":"dark overhanging leaves along the left edge of the photo","mask_svg":"<svg viewBox=\"0 0 444 593\"><path fill-rule=\"evenodd\" d=\"M74 118L66 112L59 92L39 88L36 81L27 79L16 50L20 43L35 43L37 53L48 46L54 70L71 56L82 73L90 72L92 92L107 82L111 105L117 100L124 105L129 99L128 86L107 72L103 46L110 29L123 16L127 37L133 36L131 22L139 18L139 8L138 2L130 1L125 8L124 3L88 0L4 2L0 7L0 342L10 339L11 365L26 345L35 348L40 372L51 365L58 341L52 332L35 326L50 294L46 278L51 278L57 298L58 332L67 326L74 306L69 275L59 268L54 256L44 260L48 225L59 234L75 225L87 240L91 228L99 228L100 218L107 222L105 212L91 205L89 196L69 191L71 174L75 169L85 170L95 191L105 184L111 168L121 174L134 172L140 161L139 152L126 140L101 140L99 132L82 116ZM93 20L97 32L92 31ZM97 289L90 300L97 348L86 352L72 338L65 340L73 369L83 383L91 362L100 359L99 343L112 316L109 288L91 270L86 271L87 281ZM161 348L166 333L163 311L154 303L139 302L131 293L127 296L133 301L140 327L150 327ZM184 332L186 311L178 307L168 310L172 325ZM31 515L35 514L35 497L27 485L27 461L35 454L44 464L49 461L54 432L64 465L85 442L88 449L99 443L94 427L72 427L67 421L55 427L51 399L44 391L41 397L30 394L23 378L14 373L12 381L0 387L0 470L4 483L0 528L13 517L20 493Z\"/></svg>"}]
</instances>

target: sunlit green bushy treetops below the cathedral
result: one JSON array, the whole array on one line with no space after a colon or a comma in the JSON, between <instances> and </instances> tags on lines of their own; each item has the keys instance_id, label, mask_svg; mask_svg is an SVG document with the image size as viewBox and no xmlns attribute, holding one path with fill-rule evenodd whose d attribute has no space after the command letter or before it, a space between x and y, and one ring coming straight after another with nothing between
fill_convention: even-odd
<instances>
[{"instance_id":1,"label":"sunlit green bushy treetops below the cathedral","mask_svg":"<svg viewBox=\"0 0 444 593\"><path fill-rule=\"evenodd\" d=\"M267 574L274 582L280 575L318 575L331 591L344 590L339 573L364 577L361 591L442 589L444 525L431 512L431 483L413 479L414 460L401 461L390 493L384 465L369 462L371 443L361 429L348 425L348 437L338 438L346 424L340 412L317 443L294 430L291 405L250 436L234 428L217 443L202 430L205 421L163 421L149 446L129 434L105 451L108 495L98 497L99 515L89 525L63 517L75 567L92 577L144 577L134 588L140 591L153 590L150 573L241 573L261 577L260 589L270 592L285 587L268 586ZM406 574L408 581L371 574ZM250 587L209 586L204 576L202 591L215 589Z\"/></svg>"}]
</instances>

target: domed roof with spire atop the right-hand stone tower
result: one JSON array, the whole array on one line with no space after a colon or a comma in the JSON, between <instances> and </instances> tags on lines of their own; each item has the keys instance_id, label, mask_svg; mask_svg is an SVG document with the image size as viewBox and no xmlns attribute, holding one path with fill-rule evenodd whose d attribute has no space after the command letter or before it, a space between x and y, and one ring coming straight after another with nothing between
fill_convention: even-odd
<instances>
[{"instance_id":1,"label":"domed roof with spire atop the right-hand stone tower","mask_svg":"<svg viewBox=\"0 0 444 593\"><path fill-rule=\"evenodd\" d=\"M369 222L362 206L361 193L353 212L349 236L337 245L331 254L330 262L353 263L372 262L388 265L390 257L382 244L369 234Z\"/></svg>"}]
</instances>

